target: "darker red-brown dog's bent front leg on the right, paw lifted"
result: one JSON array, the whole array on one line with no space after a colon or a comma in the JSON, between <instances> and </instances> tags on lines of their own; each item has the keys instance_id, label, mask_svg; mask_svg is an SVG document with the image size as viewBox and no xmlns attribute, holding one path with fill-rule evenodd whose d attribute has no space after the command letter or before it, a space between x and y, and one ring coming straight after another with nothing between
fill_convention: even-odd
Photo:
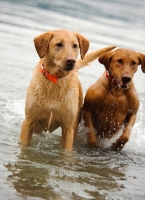
<instances>
[{"instance_id":1,"label":"darker red-brown dog's bent front leg on the right, paw lifted","mask_svg":"<svg viewBox=\"0 0 145 200\"><path fill-rule=\"evenodd\" d=\"M125 128L122 135L114 142L111 148L115 151L120 151L123 149L124 145L128 142L131 130L136 120L136 115L131 115L127 117L127 121L125 122Z\"/></svg>"}]
</instances>

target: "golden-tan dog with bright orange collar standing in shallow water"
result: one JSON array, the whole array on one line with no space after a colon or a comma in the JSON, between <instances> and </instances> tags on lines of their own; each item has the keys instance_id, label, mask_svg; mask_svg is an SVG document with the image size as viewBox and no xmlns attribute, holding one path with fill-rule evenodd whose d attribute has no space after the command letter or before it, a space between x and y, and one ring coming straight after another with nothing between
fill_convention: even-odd
<instances>
[{"instance_id":1,"label":"golden-tan dog with bright orange collar standing in shallow water","mask_svg":"<svg viewBox=\"0 0 145 200\"><path fill-rule=\"evenodd\" d=\"M27 90L26 118L22 123L20 140L27 145L33 133L53 132L60 126L62 147L72 151L83 103L77 71L92 59L86 57L86 63L80 60L76 65L76 58L79 49L81 58L84 58L89 41L76 32L55 30L39 35L34 44L40 62ZM113 48L97 51L96 58Z\"/></svg>"}]
</instances>

